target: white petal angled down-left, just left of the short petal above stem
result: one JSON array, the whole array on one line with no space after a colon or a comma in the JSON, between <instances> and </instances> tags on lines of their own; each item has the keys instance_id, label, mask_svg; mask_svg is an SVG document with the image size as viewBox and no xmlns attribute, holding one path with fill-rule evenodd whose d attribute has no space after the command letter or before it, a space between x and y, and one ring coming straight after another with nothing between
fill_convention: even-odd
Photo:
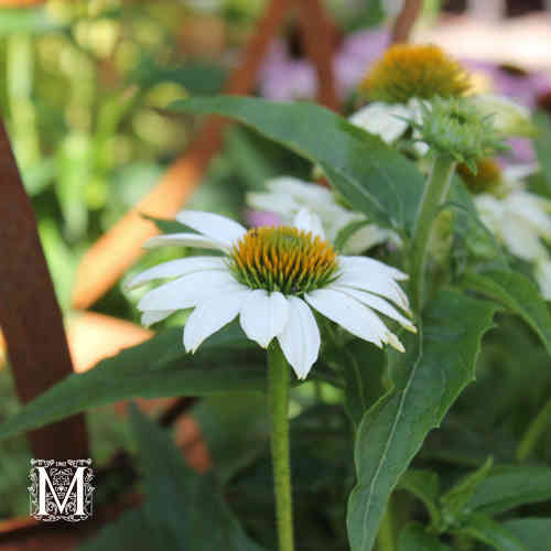
<instances>
[{"instance_id":1,"label":"white petal angled down-left, just left of the short petal above stem","mask_svg":"<svg viewBox=\"0 0 551 551\"><path fill-rule=\"evenodd\" d=\"M202 302L191 314L184 327L184 347L192 354L213 333L234 320L247 295L248 289L216 294Z\"/></svg>"}]
</instances>

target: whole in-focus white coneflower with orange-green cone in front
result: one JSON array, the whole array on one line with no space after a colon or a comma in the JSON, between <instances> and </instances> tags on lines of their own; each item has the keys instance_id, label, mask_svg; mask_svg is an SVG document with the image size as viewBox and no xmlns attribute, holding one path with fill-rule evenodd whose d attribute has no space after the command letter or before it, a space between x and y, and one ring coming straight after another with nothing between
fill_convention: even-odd
<instances>
[{"instance_id":1,"label":"whole in-focus white coneflower with orange-green cone in front","mask_svg":"<svg viewBox=\"0 0 551 551\"><path fill-rule=\"evenodd\" d=\"M176 278L143 295L143 322L195 309L184 327L184 346L194 353L213 333L239 315L245 334L261 347L277 338L296 376L305 378L320 352L312 309L359 338L381 347L403 346L382 323L380 312L414 332L390 302L409 312L397 283L407 276L366 257L338 256L315 215L301 210L294 226L247 230L219 215L184 210L176 216L197 234L153 237L164 245L217 249L224 257L190 257L150 268L133 278L134 288L159 278Z\"/></svg>"}]
</instances>

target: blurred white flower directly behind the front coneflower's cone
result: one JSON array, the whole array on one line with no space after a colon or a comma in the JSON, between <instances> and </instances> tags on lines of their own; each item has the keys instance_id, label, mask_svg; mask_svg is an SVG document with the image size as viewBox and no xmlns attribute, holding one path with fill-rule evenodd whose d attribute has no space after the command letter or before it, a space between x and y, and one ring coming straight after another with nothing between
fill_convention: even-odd
<instances>
[{"instance_id":1,"label":"blurred white flower directly behind the front coneflower's cone","mask_svg":"<svg viewBox=\"0 0 551 551\"><path fill-rule=\"evenodd\" d=\"M361 213L348 210L335 201L333 193L321 185L291 176L281 176L266 183L267 192L247 194L247 204L259 210L279 215L283 223L292 224L301 209L307 209L321 219L329 242L335 242L338 233L348 224L366 222ZM399 237L376 224L358 228L345 244L344 252L356 255L389 239L399 242Z\"/></svg>"}]
</instances>

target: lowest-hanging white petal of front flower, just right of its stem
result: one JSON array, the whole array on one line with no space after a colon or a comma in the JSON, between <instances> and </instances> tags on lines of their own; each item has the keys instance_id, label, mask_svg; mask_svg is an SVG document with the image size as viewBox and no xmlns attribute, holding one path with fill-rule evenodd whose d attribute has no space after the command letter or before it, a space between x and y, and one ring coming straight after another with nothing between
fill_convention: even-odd
<instances>
[{"instance_id":1,"label":"lowest-hanging white petal of front flower, just right of its stem","mask_svg":"<svg viewBox=\"0 0 551 551\"><path fill-rule=\"evenodd\" d=\"M299 379L304 379L320 354L320 329L309 305L289 296L289 321L278 335L278 342L289 365Z\"/></svg>"}]
</instances>

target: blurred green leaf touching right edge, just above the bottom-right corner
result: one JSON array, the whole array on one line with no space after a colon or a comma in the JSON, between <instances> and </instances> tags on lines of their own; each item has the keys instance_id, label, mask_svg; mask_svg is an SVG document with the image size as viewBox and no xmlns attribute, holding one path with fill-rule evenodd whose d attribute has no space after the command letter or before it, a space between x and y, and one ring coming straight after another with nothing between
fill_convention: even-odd
<instances>
[{"instance_id":1,"label":"blurred green leaf touching right edge, just above the bottom-right corner","mask_svg":"<svg viewBox=\"0 0 551 551\"><path fill-rule=\"evenodd\" d=\"M494 468L476 488L469 507L477 512L498 515L523 504L551 499L551 468L537 465L507 465Z\"/></svg>"}]
</instances>

